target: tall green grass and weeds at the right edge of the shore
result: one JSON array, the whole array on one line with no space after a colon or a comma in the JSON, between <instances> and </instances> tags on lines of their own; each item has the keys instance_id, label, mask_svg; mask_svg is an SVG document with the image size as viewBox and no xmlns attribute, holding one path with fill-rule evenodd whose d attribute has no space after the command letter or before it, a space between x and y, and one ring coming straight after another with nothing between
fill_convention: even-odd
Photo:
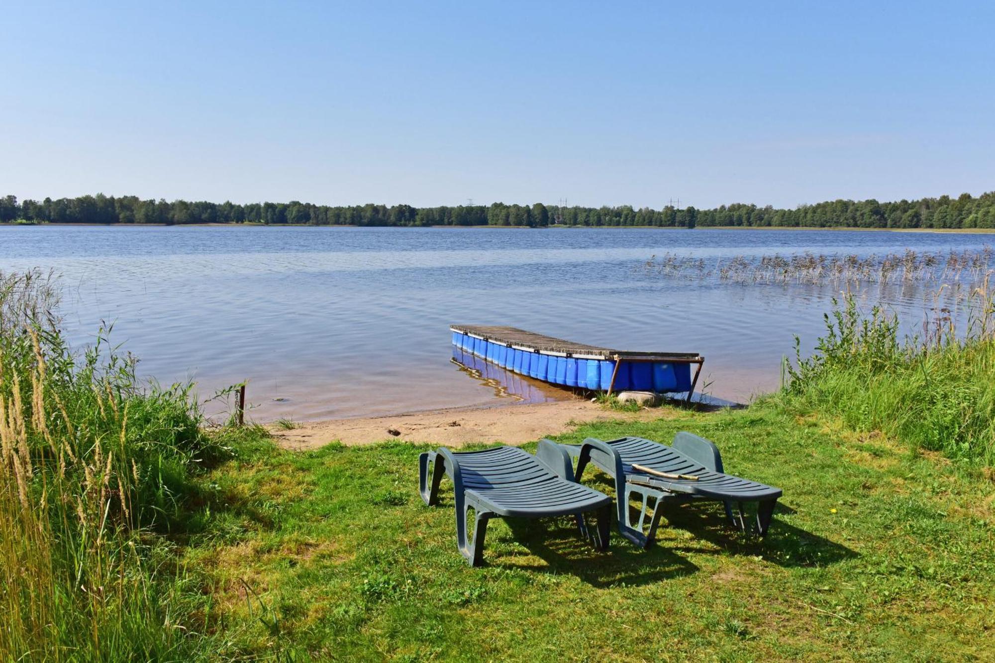
<instances>
[{"instance_id":1,"label":"tall green grass and weeds at the right edge of the shore","mask_svg":"<svg viewBox=\"0 0 995 663\"><path fill-rule=\"evenodd\" d=\"M941 298L937 295L936 300ZM862 313L834 300L826 334L794 364L775 396L792 409L839 416L910 447L995 466L995 293L989 279L963 294L961 311L938 307L922 332L901 335L895 314Z\"/></svg>"}]
</instances>

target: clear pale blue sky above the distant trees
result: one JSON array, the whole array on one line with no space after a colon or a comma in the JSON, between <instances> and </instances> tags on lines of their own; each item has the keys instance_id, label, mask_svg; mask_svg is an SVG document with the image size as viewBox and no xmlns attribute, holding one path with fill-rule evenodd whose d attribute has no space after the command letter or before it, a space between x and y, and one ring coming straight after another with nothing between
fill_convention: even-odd
<instances>
[{"instance_id":1,"label":"clear pale blue sky above the distant trees","mask_svg":"<svg viewBox=\"0 0 995 663\"><path fill-rule=\"evenodd\" d=\"M991 2L7 2L2 24L0 194L21 198L995 189Z\"/></svg>"}]
</instances>

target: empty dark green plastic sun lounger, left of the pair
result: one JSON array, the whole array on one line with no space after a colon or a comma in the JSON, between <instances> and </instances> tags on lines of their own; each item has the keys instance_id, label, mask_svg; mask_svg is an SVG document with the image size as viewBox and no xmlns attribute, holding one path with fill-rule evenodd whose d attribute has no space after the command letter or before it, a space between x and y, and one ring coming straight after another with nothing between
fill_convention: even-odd
<instances>
[{"instance_id":1,"label":"empty dark green plastic sun lounger, left of the pair","mask_svg":"<svg viewBox=\"0 0 995 663\"><path fill-rule=\"evenodd\" d=\"M437 503L445 474L453 482L456 542L472 566L483 562L484 537L492 518L575 516L581 535L598 550L608 548L612 499L573 480L570 456L543 440L535 455L516 447L454 452L441 447L418 459L419 491L427 505ZM472 539L467 519L476 514ZM596 512L597 532L589 534L584 514Z\"/></svg>"}]
</instances>

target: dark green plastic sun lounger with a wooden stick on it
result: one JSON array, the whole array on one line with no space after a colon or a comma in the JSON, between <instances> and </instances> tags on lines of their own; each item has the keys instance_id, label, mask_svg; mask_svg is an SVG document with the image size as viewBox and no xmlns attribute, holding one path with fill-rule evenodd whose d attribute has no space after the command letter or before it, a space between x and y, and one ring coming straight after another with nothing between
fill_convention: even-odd
<instances>
[{"instance_id":1,"label":"dark green plastic sun lounger with a wooden stick on it","mask_svg":"<svg viewBox=\"0 0 995 663\"><path fill-rule=\"evenodd\" d=\"M589 462L615 479L619 532L642 548L653 544L664 504L708 500L721 502L732 526L743 532L750 529L746 525L743 505L755 504L752 529L762 537L767 534L774 505L781 497L779 488L724 474L718 447L688 432L678 433L670 447L640 437L623 437L608 442L587 438L580 445L560 446L577 459L576 481L580 481ZM664 478L638 470L633 464L689 478ZM630 518L630 500L642 502L639 520L635 522ZM651 500L653 516L647 523Z\"/></svg>"}]
</instances>

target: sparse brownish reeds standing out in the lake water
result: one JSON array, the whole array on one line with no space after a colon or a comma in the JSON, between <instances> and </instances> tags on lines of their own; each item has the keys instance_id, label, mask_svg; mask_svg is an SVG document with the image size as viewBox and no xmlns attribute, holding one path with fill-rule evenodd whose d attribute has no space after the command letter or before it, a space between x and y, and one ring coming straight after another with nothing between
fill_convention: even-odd
<instances>
[{"instance_id":1,"label":"sparse brownish reeds standing out in the lake water","mask_svg":"<svg viewBox=\"0 0 995 663\"><path fill-rule=\"evenodd\" d=\"M691 280L714 279L734 284L846 285L860 283L951 283L977 282L992 267L993 250L917 252L885 256L826 255L801 253L782 256L734 256L706 261L702 258L665 253L642 266L650 275Z\"/></svg>"}]
</instances>

